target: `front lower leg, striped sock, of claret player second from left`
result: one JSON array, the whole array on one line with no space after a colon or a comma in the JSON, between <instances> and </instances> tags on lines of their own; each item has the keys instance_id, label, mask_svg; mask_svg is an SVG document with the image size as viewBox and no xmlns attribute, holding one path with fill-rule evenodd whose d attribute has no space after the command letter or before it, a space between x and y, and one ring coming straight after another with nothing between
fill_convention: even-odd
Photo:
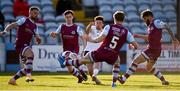
<instances>
[{"instance_id":1,"label":"front lower leg, striped sock, of claret player second from left","mask_svg":"<svg viewBox=\"0 0 180 91\"><path fill-rule=\"evenodd\" d=\"M83 77L80 75L79 71L73 66L66 66L66 67L70 74L78 78L78 83L82 83Z\"/></svg>"}]
</instances>

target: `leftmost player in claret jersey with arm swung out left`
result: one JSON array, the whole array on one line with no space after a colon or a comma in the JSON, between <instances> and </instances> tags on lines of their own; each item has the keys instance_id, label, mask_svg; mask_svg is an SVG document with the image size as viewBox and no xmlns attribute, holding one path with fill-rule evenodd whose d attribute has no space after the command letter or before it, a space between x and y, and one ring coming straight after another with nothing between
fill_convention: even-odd
<instances>
[{"instance_id":1,"label":"leftmost player in claret jersey with arm swung out left","mask_svg":"<svg viewBox=\"0 0 180 91\"><path fill-rule=\"evenodd\" d=\"M38 7L32 6L29 9L29 17L21 18L18 21L9 24L3 32L0 32L0 35L2 35L12 28L18 28L15 48L19 54L19 59L22 63L24 63L24 66L16 73L16 75L14 75L13 78L9 80L8 83L11 85L16 85L16 80L25 75L27 82L34 81L31 76L34 54L31 49L30 42L33 36L35 37L37 44L40 44L41 42L41 39L37 33L38 28L35 24L39 11L40 10Z\"/></svg>"}]
</instances>

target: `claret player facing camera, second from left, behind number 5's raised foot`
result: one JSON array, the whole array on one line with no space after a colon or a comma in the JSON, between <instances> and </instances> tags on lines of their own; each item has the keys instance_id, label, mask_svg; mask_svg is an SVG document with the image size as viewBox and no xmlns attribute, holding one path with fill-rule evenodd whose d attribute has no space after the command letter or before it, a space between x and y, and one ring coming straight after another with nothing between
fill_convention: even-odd
<instances>
[{"instance_id":1,"label":"claret player facing camera, second from left, behind number 5's raised foot","mask_svg":"<svg viewBox=\"0 0 180 91\"><path fill-rule=\"evenodd\" d=\"M51 32L50 35L53 38L55 38L57 35L61 36L63 43L63 51L71 51L78 54L79 37L83 40L83 47L85 48L86 46L86 41L83 38L85 33L78 25L73 23L74 12L72 10L66 10L64 12L64 18L66 20L66 24L61 24L56 30L56 32ZM62 62L60 63L63 66ZM66 66L68 68L69 73L78 78L78 83L81 83L83 80L87 80L87 76L81 67L75 68L71 65Z\"/></svg>"}]
</instances>

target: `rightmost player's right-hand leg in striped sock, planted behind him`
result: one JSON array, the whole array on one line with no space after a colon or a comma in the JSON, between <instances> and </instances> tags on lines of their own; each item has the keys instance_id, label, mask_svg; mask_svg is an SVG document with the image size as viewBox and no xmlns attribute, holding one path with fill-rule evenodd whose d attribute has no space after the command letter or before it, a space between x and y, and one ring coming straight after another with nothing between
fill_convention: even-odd
<instances>
[{"instance_id":1,"label":"rightmost player's right-hand leg in striped sock, planted behind him","mask_svg":"<svg viewBox=\"0 0 180 91\"><path fill-rule=\"evenodd\" d=\"M148 60L146 65L146 70L154 76L156 76L159 80L161 80L162 85L169 85L169 82L165 80L164 76L161 74L161 72L154 67L155 61L154 60Z\"/></svg>"}]
</instances>

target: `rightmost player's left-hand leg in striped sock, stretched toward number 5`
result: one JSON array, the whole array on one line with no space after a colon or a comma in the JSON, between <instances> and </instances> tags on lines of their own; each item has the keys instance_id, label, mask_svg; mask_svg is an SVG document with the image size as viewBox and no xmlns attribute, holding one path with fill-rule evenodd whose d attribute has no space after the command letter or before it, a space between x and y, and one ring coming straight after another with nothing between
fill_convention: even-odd
<instances>
[{"instance_id":1,"label":"rightmost player's left-hand leg in striped sock, stretched toward number 5","mask_svg":"<svg viewBox=\"0 0 180 91\"><path fill-rule=\"evenodd\" d=\"M126 73L120 77L119 81L121 84L124 84L124 82L136 71L138 64L145 62L145 57L143 54L138 55L135 57L134 61L132 62L131 66L128 68Z\"/></svg>"}]
</instances>

